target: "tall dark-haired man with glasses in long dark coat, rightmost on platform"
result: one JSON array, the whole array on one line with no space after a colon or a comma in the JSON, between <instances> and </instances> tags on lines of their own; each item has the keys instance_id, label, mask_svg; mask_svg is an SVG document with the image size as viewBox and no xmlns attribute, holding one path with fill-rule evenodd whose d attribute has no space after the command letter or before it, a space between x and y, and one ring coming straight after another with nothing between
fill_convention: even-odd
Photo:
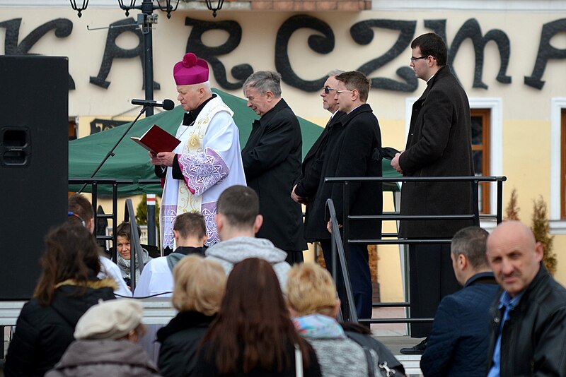
<instances>
[{"instance_id":1,"label":"tall dark-haired man with glasses in long dark coat, rightmost on platform","mask_svg":"<svg viewBox=\"0 0 566 377\"><path fill-rule=\"evenodd\" d=\"M410 66L427 89L412 105L407 146L391 166L404 176L472 176L470 106L466 92L446 66L446 44L434 32L411 43ZM401 215L471 215L473 193L468 182L405 182ZM473 220L401 220L399 237L446 239ZM450 244L409 246L410 313L432 318L442 297L459 289L452 272ZM431 323L413 323L412 337L425 337L403 354L422 354Z\"/></svg>"}]
</instances>

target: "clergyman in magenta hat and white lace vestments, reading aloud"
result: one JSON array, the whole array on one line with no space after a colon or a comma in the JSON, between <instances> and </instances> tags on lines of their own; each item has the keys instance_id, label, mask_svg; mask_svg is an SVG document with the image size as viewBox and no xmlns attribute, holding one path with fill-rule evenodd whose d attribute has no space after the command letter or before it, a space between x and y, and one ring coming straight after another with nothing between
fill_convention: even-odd
<instances>
[{"instance_id":1,"label":"clergyman in magenta hat and white lace vestments, reading aloud","mask_svg":"<svg viewBox=\"0 0 566 377\"><path fill-rule=\"evenodd\" d=\"M238 127L232 110L210 89L207 62L187 53L173 67L173 78L177 100L187 112L176 134L181 143L173 152L149 152L163 184L160 227L166 254L175 250L173 220L181 213L202 213L207 246L216 244L214 215L220 193L246 185Z\"/></svg>"}]
</instances>

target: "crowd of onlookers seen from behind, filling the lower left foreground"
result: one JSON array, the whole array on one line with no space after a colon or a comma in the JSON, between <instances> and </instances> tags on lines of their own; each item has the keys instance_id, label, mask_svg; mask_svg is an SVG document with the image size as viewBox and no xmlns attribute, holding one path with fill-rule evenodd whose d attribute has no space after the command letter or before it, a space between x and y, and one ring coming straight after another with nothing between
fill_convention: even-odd
<instances>
[{"instance_id":1,"label":"crowd of onlookers seen from behind, filling the lower left foreground","mask_svg":"<svg viewBox=\"0 0 566 377\"><path fill-rule=\"evenodd\" d=\"M5 375L403 376L366 328L337 323L339 300L327 270L291 268L284 251L254 237L259 208L253 189L226 188L216 215L221 241L204 255L204 217L178 215L173 229L181 246L149 261L134 291L173 291L178 314L153 333L141 321L141 301L115 299L114 278L97 277L101 250L86 223L70 215L47 236L42 276L16 323Z\"/></svg>"}]
</instances>

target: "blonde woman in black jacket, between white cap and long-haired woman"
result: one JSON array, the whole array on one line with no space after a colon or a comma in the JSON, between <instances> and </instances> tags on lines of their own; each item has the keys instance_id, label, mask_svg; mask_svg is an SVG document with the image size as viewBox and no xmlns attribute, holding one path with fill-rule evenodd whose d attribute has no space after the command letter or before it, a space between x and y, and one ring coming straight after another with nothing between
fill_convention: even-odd
<instances>
[{"instance_id":1,"label":"blonde woman in black jacket, between white cap and long-haired woman","mask_svg":"<svg viewBox=\"0 0 566 377\"><path fill-rule=\"evenodd\" d=\"M193 376L197 345L220 308L226 289L224 268L192 254L173 269L173 306L179 311L157 332L158 368L165 377Z\"/></svg>"}]
</instances>

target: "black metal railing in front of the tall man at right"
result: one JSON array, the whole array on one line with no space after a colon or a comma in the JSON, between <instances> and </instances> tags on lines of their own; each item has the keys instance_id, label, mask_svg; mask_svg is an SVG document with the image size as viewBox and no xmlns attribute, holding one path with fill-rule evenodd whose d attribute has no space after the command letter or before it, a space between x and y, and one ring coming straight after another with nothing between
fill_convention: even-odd
<instances>
[{"instance_id":1,"label":"black metal railing in front of the tall man at right","mask_svg":"<svg viewBox=\"0 0 566 377\"><path fill-rule=\"evenodd\" d=\"M502 206L503 206L503 182L507 180L505 176L426 176L426 177L328 177L325 182L330 184L342 184L344 186L343 190L343 203L344 203L344 224L342 225L342 239L340 239L340 232L332 233L332 275L335 281L337 281L337 270L336 270L336 259L340 262L340 268L342 270L343 282L346 287L346 297L344 303L344 313L350 316L350 318L345 318L353 322L360 323L425 323L432 322L434 318L371 318L371 319L359 319L353 311L352 307L355 307L354 297L352 295L352 286L350 282L350 277L347 275L349 268L347 266L349 245L350 244L375 244L375 245L388 245L388 244L449 244L449 239L350 239L350 221L363 221L363 220L384 220L384 221L398 221L398 220L473 220L476 225L479 225L479 206L478 206L478 186L483 182L496 182L497 183L497 209L495 214L481 215L483 218L495 219L497 224L502 222ZM381 215L350 215L350 184L351 183L364 183L364 182L424 182L424 181L435 181L435 182L470 182L472 184L473 191L473 213L471 214L458 214L458 215L400 215L399 212L382 213ZM336 212L334 208L334 203L331 199L328 199L327 207L330 213L330 221L332 222L333 229L338 229L338 223L336 218ZM382 234L382 237L398 237L398 233L388 233ZM344 273L346 272L346 273ZM374 303L373 307L409 307L410 302L395 302L395 303ZM353 312L353 315L352 315Z\"/></svg>"}]
</instances>

